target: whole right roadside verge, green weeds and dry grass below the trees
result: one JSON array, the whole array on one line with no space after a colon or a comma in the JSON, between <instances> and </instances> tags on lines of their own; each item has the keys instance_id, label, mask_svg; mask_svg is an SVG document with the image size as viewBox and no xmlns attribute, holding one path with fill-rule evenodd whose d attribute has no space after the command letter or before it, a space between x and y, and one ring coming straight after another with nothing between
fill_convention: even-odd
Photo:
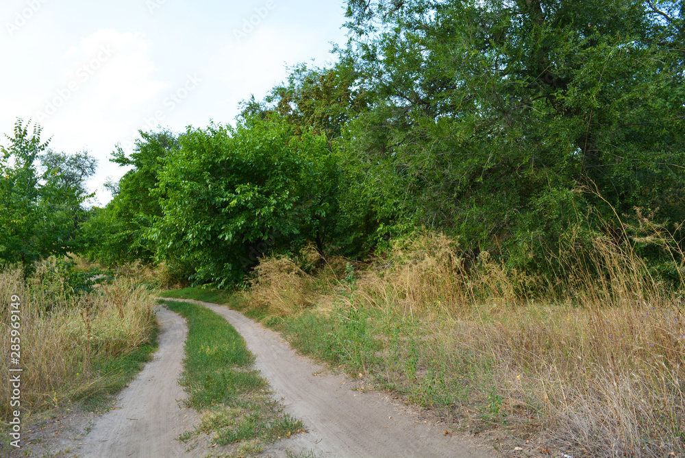
<instances>
[{"instance_id":1,"label":"whole right roadside verge, green weeds and dry grass below the trees","mask_svg":"<svg viewBox=\"0 0 685 458\"><path fill-rule=\"evenodd\" d=\"M264 258L231 306L512 456L685 456L684 285L605 239L599 278L570 262L566 278L535 278L486 256L466 270L455 245L428 234L316 272Z\"/></svg>"}]
</instances>

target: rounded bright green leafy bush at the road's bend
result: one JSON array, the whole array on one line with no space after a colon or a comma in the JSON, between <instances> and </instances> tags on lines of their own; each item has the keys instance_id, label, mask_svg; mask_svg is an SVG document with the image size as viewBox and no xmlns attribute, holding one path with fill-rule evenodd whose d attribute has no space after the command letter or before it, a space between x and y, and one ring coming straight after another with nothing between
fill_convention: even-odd
<instances>
[{"instance_id":1,"label":"rounded bright green leafy bush at the road's bend","mask_svg":"<svg viewBox=\"0 0 685 458\"><path fill-rule=\"evenodd\" d=\"M325 237L336 189L325 136L275 118L188 128L159 175L158 258L195 266L195 282L240 281L272 248Z\"/></svg>"}]
</instances>

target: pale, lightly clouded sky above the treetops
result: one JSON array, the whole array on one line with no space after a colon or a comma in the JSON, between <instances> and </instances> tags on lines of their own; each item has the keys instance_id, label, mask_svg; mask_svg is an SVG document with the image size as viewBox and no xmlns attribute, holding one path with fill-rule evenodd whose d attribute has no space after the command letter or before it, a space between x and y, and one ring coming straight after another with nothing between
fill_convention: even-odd
<instances>
[{"instance_id":1,"label":"pale, lightly clouded sky above the treetops","mask_svg":"<svg viewBox=\"0 0 685 458\"><path fill-rule=\"evenodd\" d=\"M0 144L21 117L55 151L86 149L104 205L103 183L125 173L108 160L116 143L130 152L140 129L233 124L286 66L334 62L344 14L344 0L2 0Z\"/></svg>"}]
</instances>

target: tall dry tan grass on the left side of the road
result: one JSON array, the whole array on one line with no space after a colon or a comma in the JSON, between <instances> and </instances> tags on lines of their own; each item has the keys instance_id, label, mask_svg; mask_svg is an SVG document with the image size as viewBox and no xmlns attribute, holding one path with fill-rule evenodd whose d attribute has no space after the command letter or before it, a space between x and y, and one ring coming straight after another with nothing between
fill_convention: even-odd
<instances>
[{"instance_id":1,"label":"tall dry tan grass on the left side of the road","mask_svg":"<svg viewBox=\"0 0 685 458\"><path fill-rule=\"evenodd\" d=\"M21 403L25 412L60 405L95 383L93 363L133 350L149 338L155 299L146 289L121 278L100 291L73 295L47 260L23 281L20 269L0 272L0 373L8 374L8 306L21 298ZM0 415L9 409L10 385L0 384Z\"/></svg>"}]
</instances>

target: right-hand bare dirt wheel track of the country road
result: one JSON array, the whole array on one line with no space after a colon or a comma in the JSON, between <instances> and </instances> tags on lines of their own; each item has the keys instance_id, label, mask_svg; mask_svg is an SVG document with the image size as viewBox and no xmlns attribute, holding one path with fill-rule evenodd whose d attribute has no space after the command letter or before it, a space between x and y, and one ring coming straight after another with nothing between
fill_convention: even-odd
<instances>
[{"instance_id":1,"label":"right-hand bare dirt wheel track of the country road","mask_svg":"<svg viewBox=\"0 0 685 458\"><path fill-rule=\"evenodd\" d=\"M305 422L299 434L264 450L286 456L312 451L330 457L493 457L492 448L445 435L438 425L421 424L378 392L361 393L346 387L345 377L314 375L324 368L297 354L277 333L225 306L207 302L225 317L256 356L256 368L269 381L286 411Z\"/></svg>"}]
</instances>

